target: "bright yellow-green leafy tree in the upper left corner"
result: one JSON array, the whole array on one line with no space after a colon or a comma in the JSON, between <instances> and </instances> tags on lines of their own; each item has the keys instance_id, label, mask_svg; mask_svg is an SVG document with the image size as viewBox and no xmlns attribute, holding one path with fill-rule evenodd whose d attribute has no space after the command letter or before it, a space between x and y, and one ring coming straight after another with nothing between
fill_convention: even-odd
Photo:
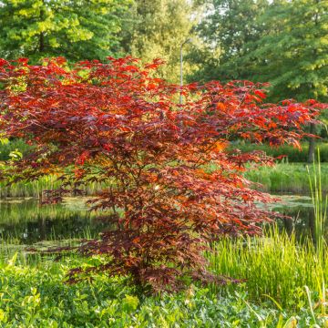
<instances>
[{"instance_id":1,"label":"bright yellow-green leafy tree in the upper left corner","mask_svg":"<svg viewBox=\"0 0 328 328\"><path fill-rule=\"evenodd\" d=\"M119 50L129 0L2 0L0 56L103 59Z\"/></svg>"}]
</instances>

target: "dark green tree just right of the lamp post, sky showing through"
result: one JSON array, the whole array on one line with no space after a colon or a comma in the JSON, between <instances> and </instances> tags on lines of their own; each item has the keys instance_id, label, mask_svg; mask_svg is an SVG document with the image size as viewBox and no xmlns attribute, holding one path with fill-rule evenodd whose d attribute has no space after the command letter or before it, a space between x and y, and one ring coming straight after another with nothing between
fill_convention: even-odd
<instances>
[{"instance_id":1,"label":"dark green tree just right of the lamp post, sky showing through","mask_svg":"<svg viewBox=\"0 0 328 328\"><path fill-rule=\"evenodd\" d=\"M197 78L251 79L249 65L239 65L239 59L262 34L257 17L269 5L268 0L208 0L207 5L208 14L197 27L206 46L193 53L194 60L203 63Z\"/></svg>"}]
</instances>

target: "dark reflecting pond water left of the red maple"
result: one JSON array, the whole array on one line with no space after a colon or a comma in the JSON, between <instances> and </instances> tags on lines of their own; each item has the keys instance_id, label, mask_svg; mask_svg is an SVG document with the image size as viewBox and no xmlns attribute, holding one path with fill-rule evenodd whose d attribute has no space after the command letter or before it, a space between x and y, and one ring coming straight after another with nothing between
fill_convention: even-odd
<instances>
[{"instance_id":1,"label":"dark reflecting pond water left of the red maple","mask_svg":"<svg viewBox=\"0 0 328 328\"><path fill-rule=\"evenodd\" d=\"M37 241L85 238L108 224L90 212L87 199L67 198L62 204L40 206L35 199L0 200L0 236L25 244Z\"/></svg>"}]
</instances>

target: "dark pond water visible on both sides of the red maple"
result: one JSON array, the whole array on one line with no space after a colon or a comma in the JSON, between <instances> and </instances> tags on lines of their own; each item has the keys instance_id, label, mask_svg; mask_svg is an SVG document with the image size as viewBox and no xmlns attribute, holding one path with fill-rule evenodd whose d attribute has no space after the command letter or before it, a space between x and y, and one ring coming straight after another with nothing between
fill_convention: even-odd
<instances>
[{"instance_id":1,"label":"dark pond water visible on both sides of the red maple","mask_svg":"<svg viewBox=\"0 0 328 328\"><path fill-rule=\"evenodd\" d=\"M298 236L311 235L313 206L308 196L278 196L281 202L271 209L292 217L280 220L288 232L293 229ZM36 199L0 200L0 237L15 238L19 243L58 241L97 236L108 228L108 223L97 219L99 213L90 212L87 198L66 198L63 203L40 206Z\"/></svg>"}]
</instances>

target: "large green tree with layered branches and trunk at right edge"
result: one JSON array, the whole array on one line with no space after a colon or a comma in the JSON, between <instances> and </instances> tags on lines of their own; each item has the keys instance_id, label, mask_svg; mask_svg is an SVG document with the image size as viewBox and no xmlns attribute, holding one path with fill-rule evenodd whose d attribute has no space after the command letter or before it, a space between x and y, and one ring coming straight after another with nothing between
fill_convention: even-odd
<instances>
[{"instance_id":1,"label":"large green tree with layered branches and trunk at right edge","mask_svg":"<svg viewBox=\"0 0 328 328\"><path fill-rule=\"evenodd\" d=\"M270 81L272 99L328 99L328 1L280 0L261 15L265 34L241 57L254 79ZM255 65L254 65L255 63ZM318 132L311 125L310 132ZM313 160L314 140L309 147Z\"/></svg>"}]
</instances>

